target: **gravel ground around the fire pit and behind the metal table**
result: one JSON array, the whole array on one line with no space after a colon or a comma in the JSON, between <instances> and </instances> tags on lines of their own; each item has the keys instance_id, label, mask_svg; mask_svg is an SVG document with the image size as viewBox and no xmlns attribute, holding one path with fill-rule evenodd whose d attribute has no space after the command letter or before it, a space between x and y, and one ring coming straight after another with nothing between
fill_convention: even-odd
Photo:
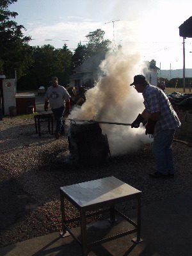
<instances>
[{"instance_id":1,"label":"gravel ground around the fire pit and behind the metal table","mask_svg":"<svg viewBox=\"0 0 192 256\"><path fill-rule=\"evenodd\" d=\"M151 145L111 157L102 166L80 166L67 161L67 136L55 140L44 133L39 138L34 120L21 118L0 122L0 143L1 247L61 231L61 186L113 175L142 191L142 206L191 190L192 148L178 141L173 141L177 174L175 179L165 180L148 177L155 170ZM68 216L76 216L72 205L68 207ZM118 207L127 211L134 209L136 202Z\"/></svg>"}]
</instances>

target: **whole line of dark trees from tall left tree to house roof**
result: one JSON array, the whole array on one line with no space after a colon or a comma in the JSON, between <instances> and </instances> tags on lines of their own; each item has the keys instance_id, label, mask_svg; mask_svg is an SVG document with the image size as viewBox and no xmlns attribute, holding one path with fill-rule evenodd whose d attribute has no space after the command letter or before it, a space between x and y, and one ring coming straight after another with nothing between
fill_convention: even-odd
<instances>
[{"instance_id":1,"label":"whole line of dark trees from tall left tree to house roof","mask_svg":"<svg viewBox=\"0 0 192 256\"><path fill-rule=\"evenodd\" d=\"M67 44L61 49L52 45L30 46L31 36L24 36L24 26L13 19L17 12L10 12L8 6L17 0L1 0L0 3L0 73L6 79L17 74L17 89L31 90L49 86L51 76L57 76L60 84L67 86L75 67L95 54L109 51L110 40L105 40L101 29L86 35L88 43L77 45L74 52Z\"/></svg>"}]
</instances>

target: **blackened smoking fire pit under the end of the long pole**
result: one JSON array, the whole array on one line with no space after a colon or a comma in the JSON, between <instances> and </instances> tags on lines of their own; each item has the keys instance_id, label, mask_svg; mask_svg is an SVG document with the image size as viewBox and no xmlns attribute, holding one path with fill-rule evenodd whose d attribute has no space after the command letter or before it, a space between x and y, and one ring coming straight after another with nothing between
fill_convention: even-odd
<instances>
[{"instance_id":1,"label":"blackened smoking fire pit under the end of the long pole","mask_svg":"<svg viewBox=\"0 0 192 256\"><path fill-rule=\"evenodd\" d=\"M108 138L102 134L99 122L71 122L68 148L72 157L78 158L81 164L106 163L110 155Z\"/></svg>"}]
</instances>

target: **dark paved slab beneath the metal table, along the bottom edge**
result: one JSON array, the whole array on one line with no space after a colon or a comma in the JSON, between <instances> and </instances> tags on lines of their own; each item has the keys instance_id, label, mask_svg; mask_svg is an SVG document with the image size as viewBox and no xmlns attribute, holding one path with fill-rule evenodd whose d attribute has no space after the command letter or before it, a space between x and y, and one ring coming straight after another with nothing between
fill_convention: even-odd
<instances>
[{"instance_id":1,"label":"dark paved slab beneath the metal table, along the bottom edge","mask_svg":"<svg viewBox=\"0 0 192 256\"><path fill-rule=\"evenodd\" d=\"M132 243L136 234L124 236L107 243L93 246L89 256L191 256L192 255L192 191L156 202L141 208L141 238ZM126 215L136 221L136 210ZM102 238L122 232L127 221L117 218L87 226L88 237ZM72 232L80 236L80 227ZM81 247L72 236L61 237L58 232L36 237L0 248L1 256L81 256Z\"/></svg>"}]
</instances>

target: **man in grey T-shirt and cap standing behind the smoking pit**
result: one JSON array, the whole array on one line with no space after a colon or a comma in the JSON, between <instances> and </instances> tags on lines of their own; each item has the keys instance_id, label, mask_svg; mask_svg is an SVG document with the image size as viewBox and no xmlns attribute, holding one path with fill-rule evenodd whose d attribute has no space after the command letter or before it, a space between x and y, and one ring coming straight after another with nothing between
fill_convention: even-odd
<instances>
[{"instance_id":1,"label":"man in grey T-shirt and cap standing behind the smoking pit","mask_svg":"<svg viewBox=\"0 0 192 256\"><path fill-rule=\"evenodd\" d=\"M66 108L66 112L70 111L70 95L67 90L58 84L57 77L51 77L51 84L45 93L45 111L48 110L48 104L50 104L52 113L56 120L55 138L60 138L61 134L65 134L65 128L63 122L60 120L63 117L63 113Z\"/></svg>"}]
</instances>

